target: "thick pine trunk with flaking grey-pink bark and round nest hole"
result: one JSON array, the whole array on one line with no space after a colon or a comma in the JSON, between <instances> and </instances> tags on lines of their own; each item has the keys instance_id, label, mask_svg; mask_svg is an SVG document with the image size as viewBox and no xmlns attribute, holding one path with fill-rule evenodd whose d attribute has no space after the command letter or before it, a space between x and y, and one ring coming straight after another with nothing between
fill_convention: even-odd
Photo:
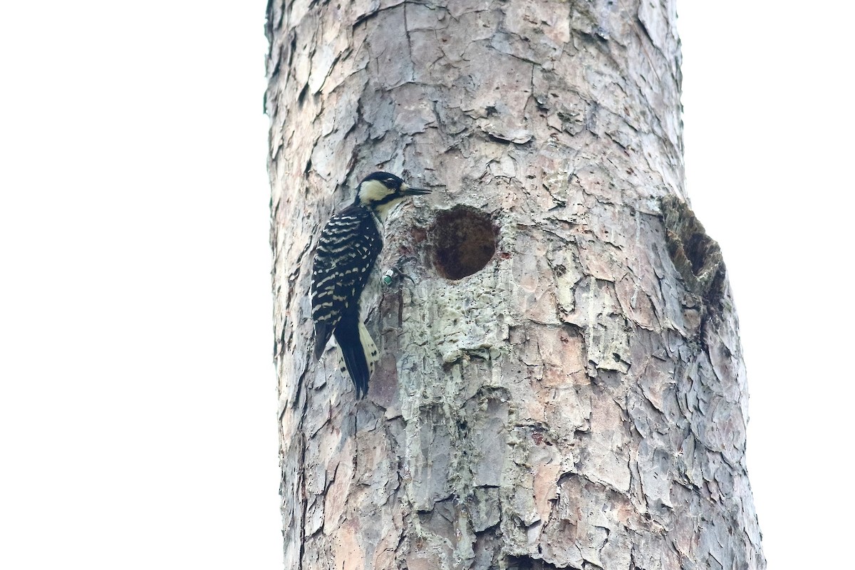
<instances>
[{"instance_id":1,"label":"thick pine trunk with flaking grey-pink bark and round nest hole","mask_svg":"<svg viewBox=\"0 0 855 570\"><path fill-rule=\"evenodd\" d=\"M763 568L746 374L683 191L673 0L272 2L286 568ZM374 170L369 396L311 357L321 226Z\"/></svg>"}]
</instances>

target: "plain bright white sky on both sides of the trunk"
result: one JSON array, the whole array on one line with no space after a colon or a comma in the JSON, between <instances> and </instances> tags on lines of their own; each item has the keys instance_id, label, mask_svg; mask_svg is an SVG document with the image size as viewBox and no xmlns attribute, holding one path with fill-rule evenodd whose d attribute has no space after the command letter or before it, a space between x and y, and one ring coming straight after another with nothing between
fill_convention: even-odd
<instances>
[{"instance_id":1,"label":"plain bright white sky on both sides of the trunk","mask_svg":"<svg viewBox=\"0 0 855 570\"><path fill-rule=\"evenodd\" d=\"M0 567L281 566L264 7L0 8ZM853 10L679 9L688 192L740 315L765 554L835 567Z\"/></svg>"}]
</instances>

